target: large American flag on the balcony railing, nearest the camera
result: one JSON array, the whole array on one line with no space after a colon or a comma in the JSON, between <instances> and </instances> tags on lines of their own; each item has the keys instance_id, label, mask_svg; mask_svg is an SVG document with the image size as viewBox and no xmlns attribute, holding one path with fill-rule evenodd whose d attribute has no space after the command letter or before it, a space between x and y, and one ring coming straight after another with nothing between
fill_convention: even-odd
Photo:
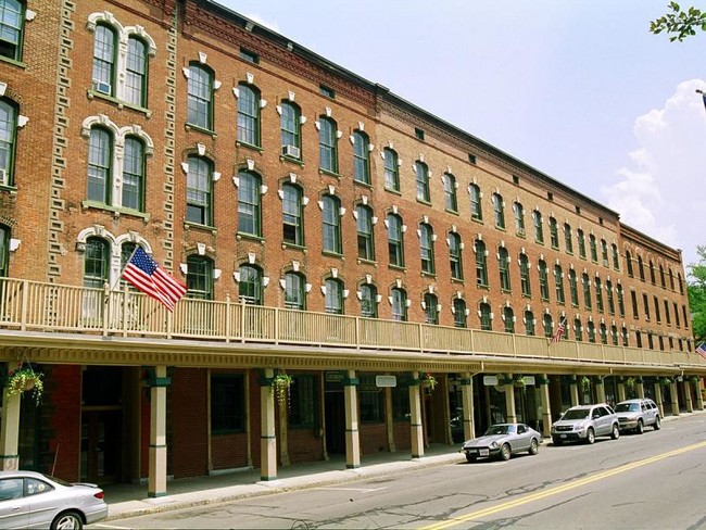
<instances>
[{"instance_id":1,"label":"large American flag on the balcony railing, nearest the camera","mask_svg":"<svg viewBox=\"0 0 706 530\"><path fill-rule=\"evenodd\" d=\"M187 292L187 287L164 270L141 247L135 249L122 276L169 311L174 311L174 305Z\"/></svg>"}]
</instances>

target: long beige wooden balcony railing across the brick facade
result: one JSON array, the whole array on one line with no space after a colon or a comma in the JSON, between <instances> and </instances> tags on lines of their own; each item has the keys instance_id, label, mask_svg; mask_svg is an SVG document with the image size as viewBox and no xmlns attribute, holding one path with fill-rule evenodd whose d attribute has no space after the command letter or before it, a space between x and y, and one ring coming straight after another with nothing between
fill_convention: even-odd
<instances>
[{"instance_id":1,"label":"long beige wooden balcony railing across the brick facade","mask_svg":"<svg viewBox=\"0 0 706 530\"><path fill-rule=\"evenodd\" d=\"M612 344L459 329L307 311L184 299L174 313L143 293L0 278L0 332L262 342L562 359L596 364L706 369L693 352L642 350Z\"/></svg>"}]
</instances>

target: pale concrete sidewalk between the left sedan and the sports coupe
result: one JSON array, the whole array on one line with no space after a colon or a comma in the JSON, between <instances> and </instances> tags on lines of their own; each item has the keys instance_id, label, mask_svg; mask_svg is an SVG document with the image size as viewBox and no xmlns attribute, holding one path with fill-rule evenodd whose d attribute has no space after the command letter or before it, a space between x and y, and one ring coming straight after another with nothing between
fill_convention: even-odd
<instances>
[{"instance_id":1,"label":"pale concrete sidewalk between the left sedan and the sports coupe","mask_svg":"<svg viewBox=\"0 0 706 530\"><path fill-rule=\"evenodd\" d=\"M277 480L269 481L260 480L259 468L210 477L175 479L167 482L167 495L157 499L147 497L144 483L110 484L103 488L109 506L106 520L338 484L449 463L463 463L466 458L458 452L459 447L461 444L431 444L426 447L425 456L420 458L412 458L408 451L381 452L364 456L361 467L356 469L345 469L345 458L335 455L327 462L279 466Z\"/></svg>"}]
</instances>

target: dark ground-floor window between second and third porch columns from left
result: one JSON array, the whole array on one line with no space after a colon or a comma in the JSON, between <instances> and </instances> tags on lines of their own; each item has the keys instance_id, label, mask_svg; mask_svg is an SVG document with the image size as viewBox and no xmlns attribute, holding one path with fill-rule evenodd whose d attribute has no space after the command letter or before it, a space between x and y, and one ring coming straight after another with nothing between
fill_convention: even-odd
<instances>
[{"instance_id":1,"label":"dark ground-floor window between second and third porch columns from left","mask_svg":"<svg viewBox=\"0 0 706 530\"><path fill-rule=\"evenodd\" d=\"M213 434L245 429L245 384L241 375L211 376L211 431Z\"/></svg>"}]
</instances>

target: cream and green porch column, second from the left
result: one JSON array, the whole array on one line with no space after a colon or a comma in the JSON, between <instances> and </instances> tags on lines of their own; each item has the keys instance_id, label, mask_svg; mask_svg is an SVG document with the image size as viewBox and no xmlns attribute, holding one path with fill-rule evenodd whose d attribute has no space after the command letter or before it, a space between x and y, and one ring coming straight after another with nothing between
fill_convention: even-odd
<instances>
[{"instance_id":1,"label":"cream and green porch column, second from the left","mask_svg":"<svg viewBox=\"0 0 706 530\"><path fill-rule=\"evenodd\" d=\"M154 367L150 384L150 464L147 496L166 495L166 366Z\"/></svg>"}]
</instances>

